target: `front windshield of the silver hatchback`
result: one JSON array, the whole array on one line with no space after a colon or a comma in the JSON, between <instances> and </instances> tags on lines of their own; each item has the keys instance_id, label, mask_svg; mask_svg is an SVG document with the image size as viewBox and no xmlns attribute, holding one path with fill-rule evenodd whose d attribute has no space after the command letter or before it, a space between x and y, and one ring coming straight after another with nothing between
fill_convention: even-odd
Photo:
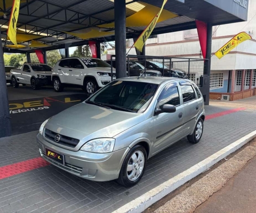
<instances>
[{"instance_id":1,"label":"front windshield of the silver hatchback","mask_svg":"<svg viewBox=\"0 0 256 213\"><path fill-rule=\"evenodd\" d=\"M157 84L115 80L103 87L86 103L115 110L142 113L153 99L157 87Z\"/></svg>"}]
</instances>

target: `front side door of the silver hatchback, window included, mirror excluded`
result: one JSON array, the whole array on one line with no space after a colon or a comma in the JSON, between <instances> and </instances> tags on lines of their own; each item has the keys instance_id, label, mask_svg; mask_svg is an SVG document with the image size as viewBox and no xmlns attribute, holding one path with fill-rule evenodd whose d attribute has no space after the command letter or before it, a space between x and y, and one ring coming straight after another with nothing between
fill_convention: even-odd
<instances>
[{"instance_id":1,"label":"front side door of the silver hatchback, window included, mirror excluded","mask_svg":"<svg viewBox=\"0 0 256 213\"><path fill-rule=\"evenodd\" d=\"M157 98L156 108L161 109L164 104L176 107L174 113L160 113L154 116L154 153L157 153L183 137L183 105L177 83L169 83Z\"/></svg>"}]
</instances>

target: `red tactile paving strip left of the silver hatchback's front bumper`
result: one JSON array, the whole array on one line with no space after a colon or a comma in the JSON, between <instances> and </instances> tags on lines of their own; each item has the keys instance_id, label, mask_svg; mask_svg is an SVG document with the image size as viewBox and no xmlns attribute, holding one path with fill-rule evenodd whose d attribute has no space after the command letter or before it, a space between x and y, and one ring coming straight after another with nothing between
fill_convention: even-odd
<instances>
[{"instance_id":1,"label":"red tactile paving strip left of the silver hatchback's front bumper","mask_svg":"<svg viewBox=\"0 0 256 213\"><path fill-rule=\"evenodd\" d=\"M25 173L26 171L37 169L40 167L45 167L49 164L50 164L49 162L39 157L39 158L34 158L30 160L21 161L18 163L13 163L11 165L3 166L3 167L0 167L0 179Z\"/></svg>"}]
</instances>

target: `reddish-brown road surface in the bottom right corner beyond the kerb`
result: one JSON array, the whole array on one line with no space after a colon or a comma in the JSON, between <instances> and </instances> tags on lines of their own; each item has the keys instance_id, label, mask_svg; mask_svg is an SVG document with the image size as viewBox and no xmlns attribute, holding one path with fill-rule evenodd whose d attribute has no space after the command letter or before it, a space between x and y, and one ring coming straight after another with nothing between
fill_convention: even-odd
<instances>
[{"instance_id":1,"label":"reddish-brown road surface in the bottom right corner beyond the kerb","mask_svg":"<svg viewBox=\"0 0 256 213\"><path fill-rule=\"evenodd\" d=\"M256 144L256 142L255 142ZM256 157L214 193L195 213L256 212Z\"/></svg>"}]
</instances>

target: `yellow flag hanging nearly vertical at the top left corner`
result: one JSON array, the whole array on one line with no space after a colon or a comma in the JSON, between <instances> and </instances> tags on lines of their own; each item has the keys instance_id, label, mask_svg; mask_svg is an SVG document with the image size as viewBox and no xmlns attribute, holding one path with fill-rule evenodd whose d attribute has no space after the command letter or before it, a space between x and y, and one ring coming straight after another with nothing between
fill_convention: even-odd
<instances>
[{"instance_id":1,"label":"yellow flag hanging nearly vertical at the top left corner","mask_svg":"<svg viewBox=\"0 0 256 213\"><path fill-rule=\"evenodd\" d=\"M16 25L19 17L19 10L20 10L20 0L13 0L12 13L9 21L7 36L9 37L11 42L15 45L17 45Z\"/></svg>"}]
</instances>

